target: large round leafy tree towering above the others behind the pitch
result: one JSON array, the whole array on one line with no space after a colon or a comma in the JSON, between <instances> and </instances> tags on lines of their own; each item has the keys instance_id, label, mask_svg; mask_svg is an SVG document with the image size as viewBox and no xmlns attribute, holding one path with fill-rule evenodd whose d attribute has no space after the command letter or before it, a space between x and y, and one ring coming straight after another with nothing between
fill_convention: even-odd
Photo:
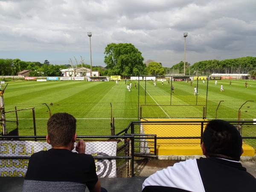
<instances>
[{"instance_id":1,"label":"large round leafy tree towering above the others behind the pitch","mask_svg":"<svg viewBox=\"0 0 256 192\"><path fill-rule=\"evenodd\" d=\"M145 72L144 58L133 44L108 44L104 54L108 75L139 76Z\"/></svg>"}]
</instances>

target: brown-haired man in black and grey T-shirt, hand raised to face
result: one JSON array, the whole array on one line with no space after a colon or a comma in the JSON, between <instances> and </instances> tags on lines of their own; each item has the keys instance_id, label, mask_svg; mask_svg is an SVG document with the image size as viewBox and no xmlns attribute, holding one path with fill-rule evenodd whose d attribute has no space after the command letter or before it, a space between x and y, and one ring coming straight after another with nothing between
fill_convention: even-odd
<instances>
[{"instance_id":1,"label":"brown-haired man in black and grey T-shirt, hand raised to face","mask_svg":"<svg viewBox=\"0 0 256 192\"><path fill-rule=\"evenodd\" d=\"M91 155L85 154L85 143L79 140L76 152L76 119L68 113L55 113L47 122L48 151L39 151L29 159L23 192L83 191L106 192L101 188Z\"/></svg>"}]
</instances>

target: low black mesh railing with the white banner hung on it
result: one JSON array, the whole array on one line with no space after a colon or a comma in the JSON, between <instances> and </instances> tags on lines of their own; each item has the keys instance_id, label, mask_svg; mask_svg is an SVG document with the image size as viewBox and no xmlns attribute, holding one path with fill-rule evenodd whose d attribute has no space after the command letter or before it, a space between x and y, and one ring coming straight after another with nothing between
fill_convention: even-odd
<instances>
[{"instance_id":1,"label":"low black mesh railing with the white banner hung on it","mask_svg":"<svg viewBox=\"0 0 256 192\"><path fill-rule=\"evenodd\" d=\"M133 176L133 136L78 136L77 138L83 139L86 143L86 154L93 156L98 177ZM1 137L0 176L24 177L29 157L35 152L50 148L45 137Z\"/></svg>"}]
</instances>

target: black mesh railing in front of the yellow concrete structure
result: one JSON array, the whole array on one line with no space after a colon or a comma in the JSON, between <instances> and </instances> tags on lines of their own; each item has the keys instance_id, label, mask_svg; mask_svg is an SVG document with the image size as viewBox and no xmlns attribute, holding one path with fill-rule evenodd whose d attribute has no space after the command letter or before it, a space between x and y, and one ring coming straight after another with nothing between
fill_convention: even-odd
<instances>
[{"instance_id":1,"label":"black mesh railing in front of the yellow concrete structure","mask_svg":"<svg viewBox=\"0 0 256 192\"><path fill-rule=\"evenodd\" d=\"M243 139L242 156L253 157L256 150L255 121L229 121L236 126ZM134 135L134 156L202 155L201 143L207 120L152 120L131 122L116 135ZM137 136L139 135L139 137ZM154 138L152 138L152 136Z\"/></svg>"}]
</instances>

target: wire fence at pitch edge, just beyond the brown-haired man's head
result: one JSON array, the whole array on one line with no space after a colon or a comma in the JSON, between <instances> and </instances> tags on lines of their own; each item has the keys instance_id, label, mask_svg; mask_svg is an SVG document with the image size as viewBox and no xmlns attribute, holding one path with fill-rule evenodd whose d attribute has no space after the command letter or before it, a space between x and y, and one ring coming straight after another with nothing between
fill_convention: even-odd
<instances>
[{"instance_id":1,"label":"wire fence at pitch edge, just beyond the brown-haired man's head","mask_svg":"<svg viewBox=\"0 0 256 192\"><path fill-rule=\"evenodd\" d=\"M18 111L24 108L29 110ZM77 133L80 135L111 135L111 126L119 132L129 122L137 120L138 115L137 102L24 103L17 105L16 109L17 116L12 105L5 106L5 111L13 111L6 113L6 128L10 133L18 127L20 136L46 135L47 121L54 113L72 114L77 120Z\"/></svg>"}]
</instances>

